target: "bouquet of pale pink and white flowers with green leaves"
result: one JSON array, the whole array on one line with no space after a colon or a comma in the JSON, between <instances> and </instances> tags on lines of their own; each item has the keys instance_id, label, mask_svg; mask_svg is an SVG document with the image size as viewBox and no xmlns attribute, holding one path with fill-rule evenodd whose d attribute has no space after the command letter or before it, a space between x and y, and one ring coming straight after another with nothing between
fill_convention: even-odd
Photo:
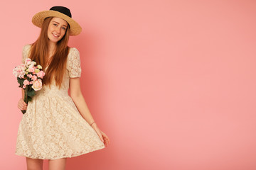
<instances>
[{"instance_id":1,"label":"bouquet of pale pink and white flowers with green leaves","mask_svg":"<svg viewBox=\"0 0 256 170\"><path fill-rule=\"evenodd\" d=\"M42 89L42 79L45 72L41 70L41 65L36 65L36 62L31 59L26 59L25 64L16 66L13 70L14 76L18 80L18 87L25 90L24 101L32 101L32 97L36 95L35 91ZM21 111L23 114L26 111Z\"/></svg>"}]
</instances>

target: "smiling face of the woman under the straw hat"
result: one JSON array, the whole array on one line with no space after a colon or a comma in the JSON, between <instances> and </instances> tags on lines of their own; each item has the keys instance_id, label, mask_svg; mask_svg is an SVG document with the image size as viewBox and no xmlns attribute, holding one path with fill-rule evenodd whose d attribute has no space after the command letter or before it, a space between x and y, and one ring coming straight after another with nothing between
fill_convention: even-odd
<instances>
[{"instance_id":1,"label":"smiling face of the woman under the straw hat","mask_svg":"<svg viewBox=\"0 0 256 170\"><path fill-rule=\"evenodd\" d=\"M65 31L68 28L67 21L62 18L54 17L48 26L48 38L51 42L58 42L65 35Z\"/></svg>"}]
</instances>

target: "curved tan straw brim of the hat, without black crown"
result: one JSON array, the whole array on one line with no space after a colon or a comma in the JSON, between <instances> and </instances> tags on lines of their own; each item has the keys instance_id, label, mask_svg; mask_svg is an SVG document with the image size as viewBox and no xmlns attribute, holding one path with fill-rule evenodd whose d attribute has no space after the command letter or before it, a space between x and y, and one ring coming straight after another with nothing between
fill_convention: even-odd
<instances>
[{"instance_id":1,"label":"curved tan straw brim of the hat, without black crown","mask_svg":"<svg viewBox=\"0 0 256 170\"><path fill-rule=\"evenodd\" d=\"M42 28L42 24L43 21L48 18L48 17L58 17L58 18L62 18L63 20L67 21L68 24L70 25L70 35L78 35L81 33L82 28L80 27L80 25L75 22L75 20L73 20L73 18L70 18L69 16L66 16L63 13L60 13L58 11L41 11L36 13L35 16L33 16L32 18L32 23L35 26L38 26L39 28Z\"/></svg>"}]
</instances>

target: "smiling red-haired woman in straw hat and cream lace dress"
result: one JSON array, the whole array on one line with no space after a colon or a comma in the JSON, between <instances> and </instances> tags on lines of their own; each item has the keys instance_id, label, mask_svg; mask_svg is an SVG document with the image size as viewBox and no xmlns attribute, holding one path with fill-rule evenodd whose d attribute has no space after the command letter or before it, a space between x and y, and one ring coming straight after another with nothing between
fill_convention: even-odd
<instances>
[{"instance_id":1,"label":"smiling red-haired woman in straw hat and cream lace dress","mask_svg":"<svg viewBox=\"0 0 256 170\"><path fill-rule=\"evenodd\" d=\"M32 22L41 34L23 47L22 62L31 58L46 75L43 88L28 105L22 90L18 108L26 113L18 127L15 153L26 157L28 169L43 169L43 159L49 159L49 169L65 169L67 157L102 149L110 140L97 127L82 96L80 54L68 47L69 35L78 35L82 28L63 6L36 13Z\"/></svg>"}]
</instances>

